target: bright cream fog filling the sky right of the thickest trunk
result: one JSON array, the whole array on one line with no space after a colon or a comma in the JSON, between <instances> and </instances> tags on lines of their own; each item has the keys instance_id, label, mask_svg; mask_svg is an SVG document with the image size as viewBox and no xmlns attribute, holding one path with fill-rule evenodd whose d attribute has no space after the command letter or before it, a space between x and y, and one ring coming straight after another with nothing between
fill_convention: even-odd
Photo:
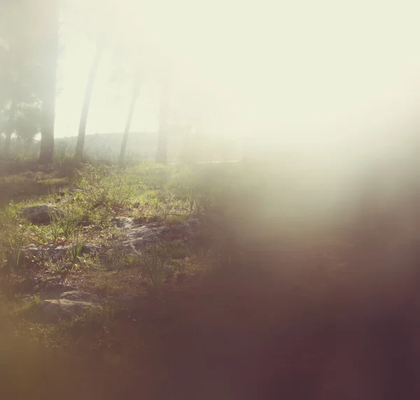
<instances>
[{"instance_id":1,"label":"bright cream fog filling the sky right of the thickest trunk","mask_svg":"<svg viewBox=\"0 0 420 400\"><path fill-rule=\"evenodd\" d=\"M332 165L399 158L419 130L415 1L63 1L55 136L78 132L96 43L106 48L87 133L158 130L159 76L172 122L243 153ZM18 21L16 22L18 24Z\"/></svg>"}]
</instances>

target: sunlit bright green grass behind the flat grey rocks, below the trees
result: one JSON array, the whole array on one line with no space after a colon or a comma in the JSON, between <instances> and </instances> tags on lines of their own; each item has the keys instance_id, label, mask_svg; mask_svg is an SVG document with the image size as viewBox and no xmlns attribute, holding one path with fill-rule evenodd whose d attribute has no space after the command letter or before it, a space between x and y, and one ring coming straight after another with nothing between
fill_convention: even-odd
<instances>
[{"instance_id":1,"label":"sunlit bright green grass behind the flat grey rocks, below the trees","mask_svg":"<svg viewBox=\"0 0 420 400\"><path fill-rule=\"evenodd\" d=\"M24 202L10 203L0 213L0 229L6 233L0 237L0 254L3 261L8 258L8 262L14 265L13 268L18 267L20 262L19 251L22 245L59 240L71 242L75 235L78 236L76 242L80 244L80 226L86 227L84 236L90 237L92 242L104 243L108 235L113 235L113 216L131 215L142 223L174 223L187 219L194 212L207 211L214 198L214 195L203 194L194 188L195 208L192 208L191 187L195 185L194 181L200 181L199 173L186 167L161 167L151 163L123 171L109 165L87 166L73 170L71 179L38 178L38 175L32 178L15 176L6 177L0 182L0 188L7 188L11 182L18 182L29 192L31 184L36 188L48 188L48 191L41 193L32 191ZM57 184L69 184L69 181L83 191L57 195ZM59 213L51 216L52 223L49 226L27 226L19 214L20 209L42 203L56 204L60 209ZM22 233L15 226L27 228ZM78 244L75 249L80 247ZM13 250L13 257L10 257L10 249ZM78 258L78 255L73 254L73 258Z\"/></svg>"}]
</instances>

